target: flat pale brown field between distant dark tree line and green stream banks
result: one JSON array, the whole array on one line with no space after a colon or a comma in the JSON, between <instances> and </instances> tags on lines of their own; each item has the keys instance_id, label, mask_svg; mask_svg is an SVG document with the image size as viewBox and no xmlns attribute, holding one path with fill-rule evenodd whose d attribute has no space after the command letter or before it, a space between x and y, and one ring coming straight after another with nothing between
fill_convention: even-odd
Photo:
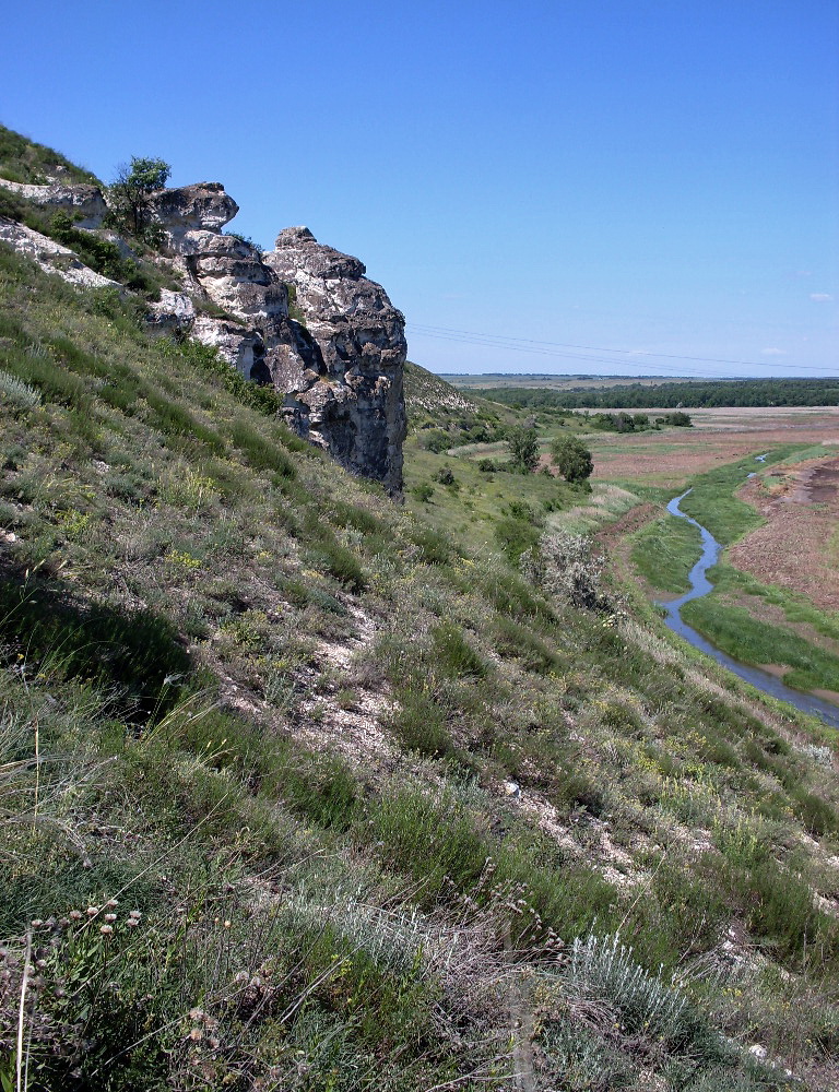
<instances>
[{"instance_id":1,"label":"flat pale brown field between distant dark tree line and green stream banks","mask_svg":"<svg viewBox=\"0 0 839 1092\"><path fill-rule=\"evenodd\" d=\"M692 410L690 418L693 428L590 436L594 477L677 488L694 474L780 443L836 444L839 454L837 406Z\"/></svg>"}]
</instances>

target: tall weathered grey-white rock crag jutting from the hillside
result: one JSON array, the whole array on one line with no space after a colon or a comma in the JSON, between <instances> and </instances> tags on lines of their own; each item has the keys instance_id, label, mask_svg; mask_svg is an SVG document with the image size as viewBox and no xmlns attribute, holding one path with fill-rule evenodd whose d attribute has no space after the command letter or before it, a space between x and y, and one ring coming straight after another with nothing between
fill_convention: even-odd
<instances>
[{"instance_id":1,"label":"tall weathered grey-white rock crag jutting from the hillside","mask_svg":"<svg viewBox=\"0 0 839 1092\"><path fill-rule=\"evenodd\" d=\"M189 332L217 347L247 379L272 383L300 436L398 495L405 436L404 318L365 276L362 262L321 246L307 228L282 232L276 248L264 254L223 235L237 211L217 182L150 198L164 252L199 300ZM202 309L201 298L210 306ZM176 305L167 299L161 323L168 316L175 320Z\"/></svg>"}]
</instances>

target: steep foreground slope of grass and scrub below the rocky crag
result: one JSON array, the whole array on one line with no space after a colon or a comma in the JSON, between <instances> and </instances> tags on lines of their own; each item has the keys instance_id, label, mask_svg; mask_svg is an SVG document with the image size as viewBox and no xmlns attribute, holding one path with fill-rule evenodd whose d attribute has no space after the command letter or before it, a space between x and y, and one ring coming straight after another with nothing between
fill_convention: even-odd
<instances>
[{"instance_id":1,"label":"steep foreground slope of grass and scrub below the rocky crag","mask_svg":"<svg viewBox=\"0 0 839 1092\"><path fill-rule=\"evenodd\" d=\"M3 1088L835 1085L832 739L113 294L0 305Z\"/></svg>"}]
</instances>

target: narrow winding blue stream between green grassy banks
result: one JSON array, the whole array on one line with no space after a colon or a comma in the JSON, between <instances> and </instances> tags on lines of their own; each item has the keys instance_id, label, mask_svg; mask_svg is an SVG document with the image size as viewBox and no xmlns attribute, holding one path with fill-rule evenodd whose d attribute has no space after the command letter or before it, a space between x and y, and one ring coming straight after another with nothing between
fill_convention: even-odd
<instances>
[{"instance_id":1,"label":"narrow winding blue stream between green grassy banks","mask_svg":"<svg viewBox=\"0 0 839 1092\"><path fill-rule=\"evenodd\" d=\"M666 608L665 622L674 633L678 633L680 637L689 641L695 649L699 649L707 655L712 656L718 664L728 667L729 670L734 672L735 675L745 679L746 682L751 682L758 690L764 690L773 698L780 698L781 701L789 701L791 705L802 710L802 712L819 716L827 724L839 728L839 707L831 704L829 701L824 701L815 695L793 690L792 687L787 686L781 679L776 678L775 675L770 675L769 672L761 670L759 667L742 664L738 660L734 660L733 656L726 655L726 653L711 644L701 633L682 620L681 610L685 603L689 603L690 600L698 600L701 595L707 595L713 589L713 584L708 580L707 573L708 569L717 563L717 558L722 549L710 531L704 527L701 523L697 523L696 520L690 519L680 508L681 501L684 500L688 492L690 492L689 489L683 492L681 497L674 497L667 505L667 511L672 515L687 520L688 523L693 523L695 527L699 529L699 533L702 536L702 556L690 570L688 577L690 591L681 595L677 600L672 600L670 603L663 604Z\"/></svg>"}]
</instances>

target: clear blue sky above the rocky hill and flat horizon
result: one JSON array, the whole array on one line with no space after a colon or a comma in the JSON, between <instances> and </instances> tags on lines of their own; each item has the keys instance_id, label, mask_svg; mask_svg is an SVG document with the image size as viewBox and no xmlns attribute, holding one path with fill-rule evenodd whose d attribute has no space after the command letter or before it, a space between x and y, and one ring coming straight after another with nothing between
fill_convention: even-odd
<instances>
[{"instance_id":1,"label":"clear blue sky above the rocky hill and flat horizon","mask_svg":"<svg viewBox=\"0 0 839 1092\"><path fill-rule=\"evenodd\" d=\"M356 254L433 370L839 373L839 0L28 0L0 87Z\"/></svg>"}]
</instances>

